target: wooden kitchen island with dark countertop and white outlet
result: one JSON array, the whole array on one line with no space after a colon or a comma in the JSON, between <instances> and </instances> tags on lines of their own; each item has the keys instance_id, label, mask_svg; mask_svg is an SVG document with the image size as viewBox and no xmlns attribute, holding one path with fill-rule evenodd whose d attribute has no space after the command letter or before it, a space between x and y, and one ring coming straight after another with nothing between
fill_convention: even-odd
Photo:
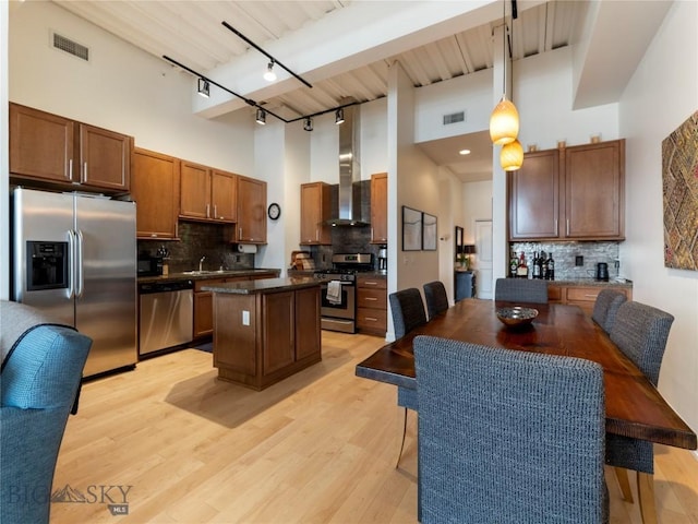
<instances>
[{"instance_id":1,"label":"wooden kitchen island with dark countertop and white outlet","mask_svg":"<svg viewBox=\"0 0 698 524\"><path fill-rule=\"evenodd\" d=\"M321 361L320 286L308 277L204 286L218 378L263 390Z\"/></svg>"}]
</instances>

